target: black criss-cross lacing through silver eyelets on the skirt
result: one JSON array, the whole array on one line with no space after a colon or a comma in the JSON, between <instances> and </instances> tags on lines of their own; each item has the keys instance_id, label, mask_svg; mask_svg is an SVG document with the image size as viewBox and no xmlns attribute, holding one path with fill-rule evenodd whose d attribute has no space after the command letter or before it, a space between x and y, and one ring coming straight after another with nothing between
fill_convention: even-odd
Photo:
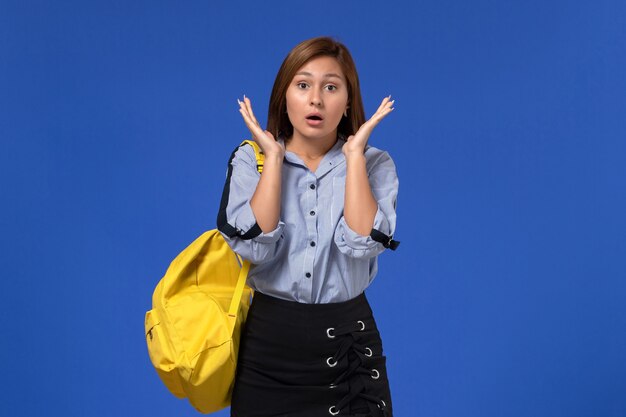
<instances>
[{"instance_id":1,"label":"black criss-cross lacing through silver eyelets on the skirt","mask_svg":"<svg viewBox=\"0 0 626 417\"><path fill-rule=\"evenodd\" d=\"M361 339L359 336L365 330L366 325L362 320L350 321L336 328L326 329L329 338L340 340L339 348L335 354L326 358L326 364L329 367L335 367L347 361L346 370L330 383L330 388L336 388L345 382L348 382L349 386L348 393L337 404L329 407L330 415L352 417L388 417L391 415L387 403L382 398L367 392L369 386L380 378L380 372L371 367L371 364L368 366L368 362L371 362L369 359L373 357L372 349L359 342ZM346 409L350 410L351 407L348 406L357 398L367 401L369 413L348 414L345 412Z\"/></svg>"}]
</instances>

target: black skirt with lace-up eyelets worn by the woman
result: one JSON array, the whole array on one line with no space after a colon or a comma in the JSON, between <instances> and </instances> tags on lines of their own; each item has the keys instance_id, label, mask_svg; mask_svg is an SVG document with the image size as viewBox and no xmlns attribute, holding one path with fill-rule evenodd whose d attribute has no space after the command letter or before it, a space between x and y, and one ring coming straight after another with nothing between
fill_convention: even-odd
<instances>
[{"instance_id":1,"label":"black skirt with lace-up eyelets worn by the woman","mask_svg":"<svg viewBox=\"0 0 626 417\"><path fill-rule=\"evenodd\" d=\"M231 416L332 415L392 416L382 342L365 294L302 304L256 292Z\"/></svg>"}]
</instances>

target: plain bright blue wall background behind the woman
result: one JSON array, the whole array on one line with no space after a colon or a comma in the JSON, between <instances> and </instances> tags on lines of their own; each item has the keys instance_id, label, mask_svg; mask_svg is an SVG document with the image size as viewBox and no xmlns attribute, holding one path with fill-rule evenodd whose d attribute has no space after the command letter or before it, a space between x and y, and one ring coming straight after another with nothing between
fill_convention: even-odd
<instances>
[{"instance_id":1,"label":"plain bright blue wall background behind the woman","mask_svg":"<svg viewBox=\"0 0 626 417\"><path fill-rule=\"evenodd\" d=\"M192 416L144 313L278 67L332 35L400 176L397 416L626 416L619 0L0 2L2 416ZM227 416L226 411L218 416Z\"/></svg>"}]
</instances>

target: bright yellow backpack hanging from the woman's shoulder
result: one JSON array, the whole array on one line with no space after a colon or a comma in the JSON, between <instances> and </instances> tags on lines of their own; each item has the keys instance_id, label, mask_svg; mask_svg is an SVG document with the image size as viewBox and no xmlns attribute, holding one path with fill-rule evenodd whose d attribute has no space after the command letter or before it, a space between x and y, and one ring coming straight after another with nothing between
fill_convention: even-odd
<instances>
[{"instance_id":1,"label":"bright yellow backpack hanging from the woman's shoulder","mask_svg":"<svg viewBox=\"0 0 626 417\"><path fill-rule=\"evenodd\" d=\"M263 155L253 141L259 172ZM150 360L166 387L201 413L230 405L241 326L252 290L250 263L216 229L170 264L152 296L145 331Z\"/></svg>"}]
</instances>

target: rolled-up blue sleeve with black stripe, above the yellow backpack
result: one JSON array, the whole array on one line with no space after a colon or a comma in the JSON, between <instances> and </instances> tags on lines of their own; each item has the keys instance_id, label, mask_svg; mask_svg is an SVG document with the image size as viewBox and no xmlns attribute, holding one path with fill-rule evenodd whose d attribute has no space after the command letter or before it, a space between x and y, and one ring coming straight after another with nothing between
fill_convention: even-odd
<instances>
[{"instance_id":1,"label":"rolled-up blue sleeve with black stripe, above the yellow backpack","mask_svg":"<svg viewBox=\"0 0 626 417\"><path fill-rule=\"evenodd\" d=\"M257 224L250 200L260 174L251 146L240 146L231 156L218 214L218 229L228 245L253 264L272 260L282 241L285 224L263 233Z\"/></svg>"}]
</instances>

